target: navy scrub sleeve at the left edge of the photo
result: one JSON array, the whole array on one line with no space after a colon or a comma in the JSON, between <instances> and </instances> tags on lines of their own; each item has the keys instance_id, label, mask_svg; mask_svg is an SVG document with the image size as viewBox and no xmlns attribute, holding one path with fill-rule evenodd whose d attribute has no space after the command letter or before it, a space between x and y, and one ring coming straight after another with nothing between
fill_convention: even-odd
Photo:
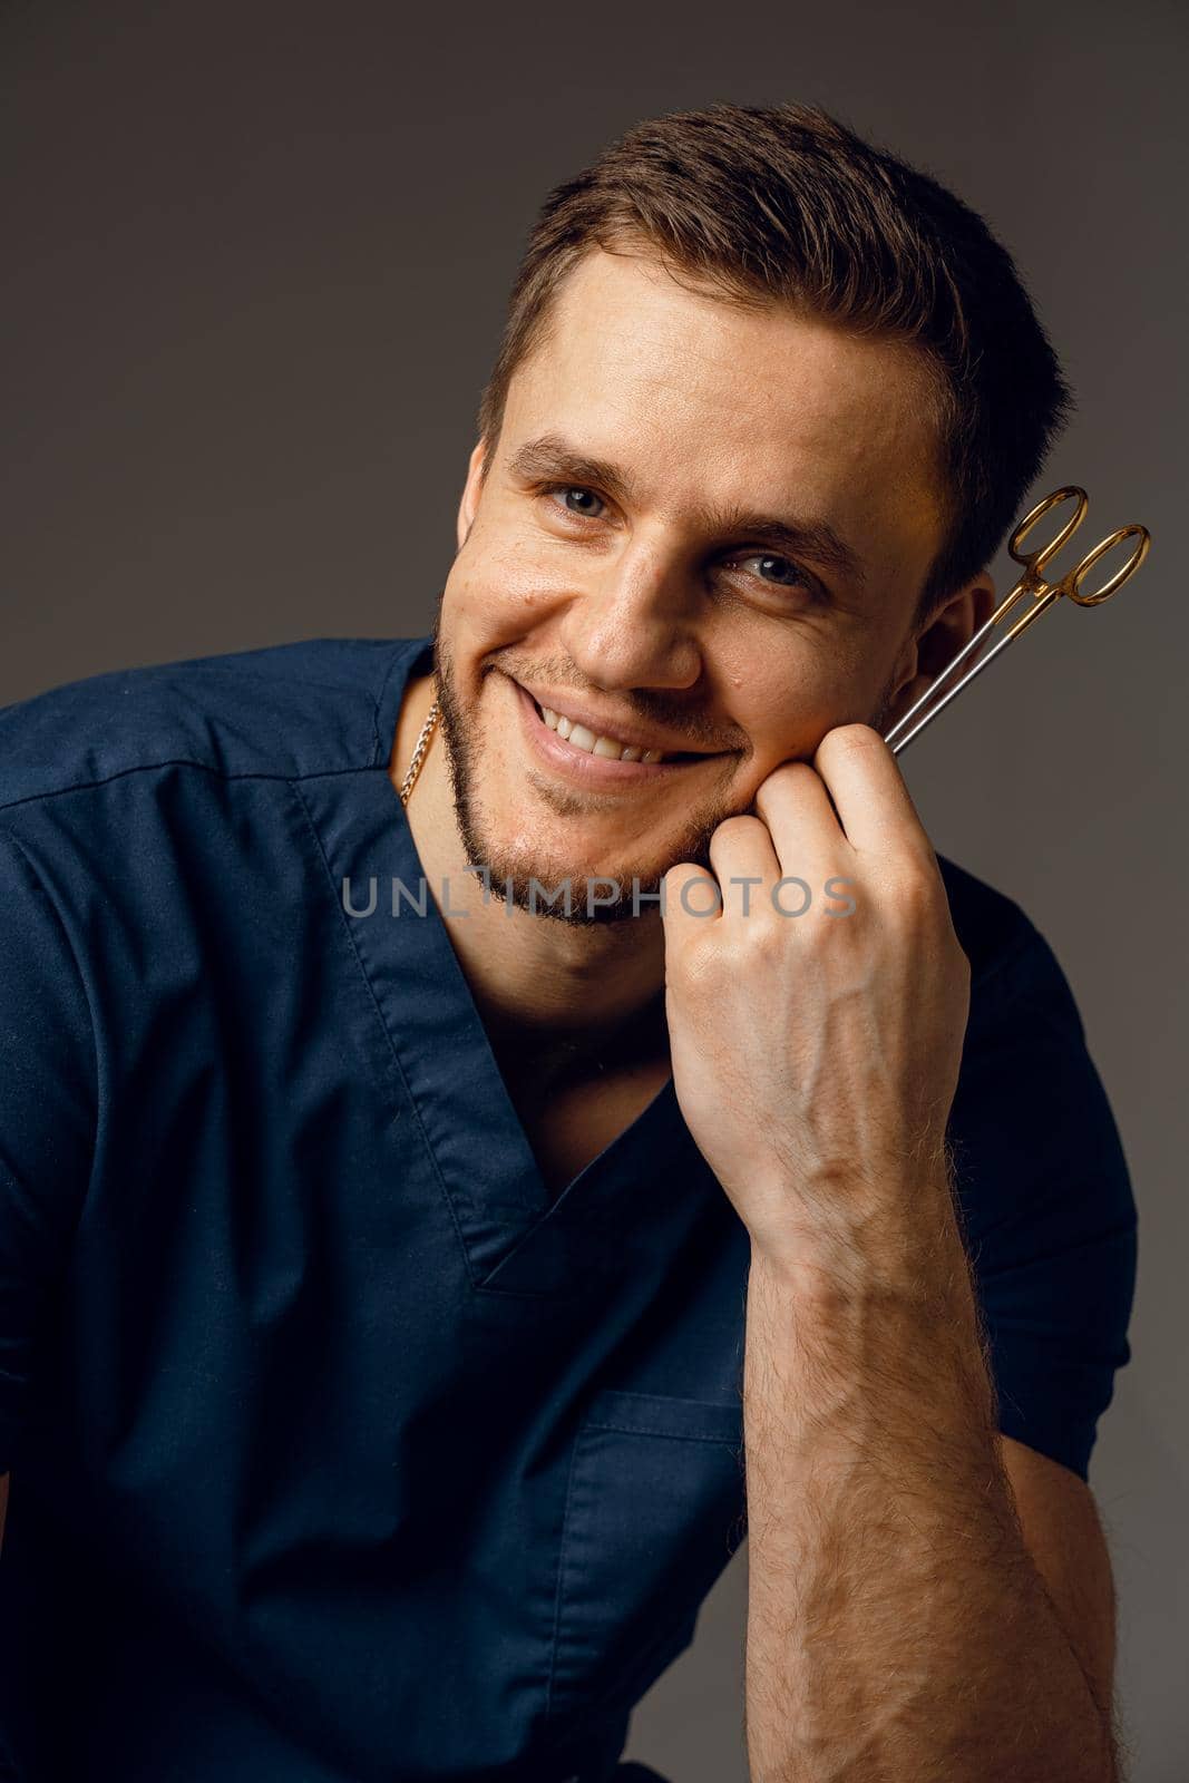
<instances>
[{"instance_id":1,"label":"navy scrub sleeve at the left edge of the photo","mask_svg":"<svg viewBox=\"0 0 1189 1783\"><path fill-rule=\"evenodd\" d=\"M37 1325L61 1278L94 1154L84 982L29 854L0 829L0 1475L29 1412Z\"/></svg>"}]
</instances>

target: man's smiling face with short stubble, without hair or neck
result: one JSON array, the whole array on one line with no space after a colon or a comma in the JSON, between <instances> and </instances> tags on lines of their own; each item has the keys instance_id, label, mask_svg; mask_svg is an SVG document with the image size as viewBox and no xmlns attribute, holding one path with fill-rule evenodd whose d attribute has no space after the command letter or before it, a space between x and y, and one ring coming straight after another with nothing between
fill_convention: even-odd
<instances>
[{"instance_id":1,"label":"man's smiling face with short stubble, without hair or neck","mask_svg":"<svg viewBox=\"0 0 1189 1783\"><path fill-rule=\"evenodd\" d=\"M633 875L709 865L775 767L877 724L941 540L934 453L911 349L579 260L483 485L471 458L437 619L467 859L521 904L569 875L574 920L604 875L626 908L601 918L627 915ZM529 694L688 754L592 756Z\"/></svg>"}]
</instances>

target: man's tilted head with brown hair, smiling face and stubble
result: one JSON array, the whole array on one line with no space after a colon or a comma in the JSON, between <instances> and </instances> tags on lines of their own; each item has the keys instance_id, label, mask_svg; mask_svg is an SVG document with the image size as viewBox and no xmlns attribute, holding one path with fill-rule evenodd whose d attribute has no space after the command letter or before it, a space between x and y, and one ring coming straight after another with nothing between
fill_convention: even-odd
<instances>
[{"instance_id":1,"label":"man's tilted head with brown hair, smiling face and stubble","mask_svg":"<svg viewBox=\"0 0 1189 1783\"><path fill-rule=\"evenodd\" d=\"M1066 405L932 180L804 107L631 130L547 198L483 392L437 622L469 858L579 902L708 863L781 761L970 635ZM586 783L517 683L699 754Z\"/></svg>"}]
</instances>

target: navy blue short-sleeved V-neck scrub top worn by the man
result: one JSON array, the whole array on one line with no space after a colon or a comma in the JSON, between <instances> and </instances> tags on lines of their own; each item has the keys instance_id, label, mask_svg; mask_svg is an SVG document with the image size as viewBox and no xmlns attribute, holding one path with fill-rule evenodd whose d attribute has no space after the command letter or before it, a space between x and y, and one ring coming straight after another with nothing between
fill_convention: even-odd
<instances>
[{"instance_id":1,"label":"navy blue short-sleeved V-neck scrub top worn by the man","mask_svg":"<svg viewBox=\"0 0 1189 1783\"><path fill-rule=\"evenodd\" d=\"M453 918L390 913L430 665L323 638L0 711L25 1783L601 1783L743 1539L749 1246L672 1080L551 1198ZM1000 1426L1086 1476L1136 1204L1054 954L943 870Z\"/></svg>"}]
</instances>

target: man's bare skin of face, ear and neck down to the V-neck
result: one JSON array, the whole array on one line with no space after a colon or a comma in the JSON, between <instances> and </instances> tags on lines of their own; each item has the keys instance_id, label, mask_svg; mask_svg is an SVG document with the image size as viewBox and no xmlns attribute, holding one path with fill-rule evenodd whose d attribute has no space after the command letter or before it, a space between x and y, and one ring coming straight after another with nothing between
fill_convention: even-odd
<instances>
[{"instance_id":1,"label":"man's bare skin of face, ear and neck down to the V-neck","mask_svg":"<svg viewBox=\"0 0 1189 1783\"><path fill-rule=\"evenodd\" d=\"M945 526L916 349L690 291L631 239L576 260L542 333L471 455L394 781L437 694L449 765L430 751L417 852L562 1187L670 1070L661 875L709 865L715 829L831 726L920 692L918 658L966 640L989 583L916 637ZM556 884L569 933L544 920Z\"/></svg>"}]
</instances>

